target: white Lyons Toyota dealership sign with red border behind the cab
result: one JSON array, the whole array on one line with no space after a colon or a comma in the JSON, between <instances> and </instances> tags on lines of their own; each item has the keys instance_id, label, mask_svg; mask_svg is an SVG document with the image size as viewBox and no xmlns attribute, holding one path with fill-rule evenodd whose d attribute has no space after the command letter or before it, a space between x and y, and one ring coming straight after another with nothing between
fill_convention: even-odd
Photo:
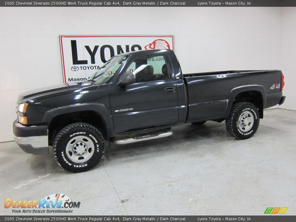
<instances>
[{"instance_id":1,"label":"white Lyons Toyota dealership sign with red border behind the cab","mask_svg":"<svg viewBox=\"0 0 296 222\"><path fill-rule=\"evenodd\" d=\"M174 50L173 35L60 35L64 83L84 82L114 55L149 49Z\"/></svg>"}]
</instances>

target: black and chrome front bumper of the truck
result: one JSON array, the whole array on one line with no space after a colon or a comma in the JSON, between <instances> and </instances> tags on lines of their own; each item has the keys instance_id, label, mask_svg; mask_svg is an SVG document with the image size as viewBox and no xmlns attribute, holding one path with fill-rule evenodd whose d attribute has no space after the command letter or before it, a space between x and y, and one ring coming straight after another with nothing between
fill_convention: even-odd
<instances>
[{"instance_id":1,"label":"black and chrome front bumper of the truck","mask_svg":"<svg viewBox=\"0 0 296 222\"><path fill-rule=\"evenodd\" d=\"M13 122L13 134L19 147L30 154L49 154L47 126L24 126Z\"/></svg>"}]
</instances>

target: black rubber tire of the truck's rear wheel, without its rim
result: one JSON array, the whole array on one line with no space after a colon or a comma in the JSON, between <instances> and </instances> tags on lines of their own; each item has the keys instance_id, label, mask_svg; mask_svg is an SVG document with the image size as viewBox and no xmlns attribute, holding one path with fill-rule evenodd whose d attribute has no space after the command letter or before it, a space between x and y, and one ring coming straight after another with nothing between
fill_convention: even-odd
<instances>
[{"instance_id":1,"label":"black rubber tire of the truck's rear wheel, without its rim","mask_svg":"<svg viewBox=\"0 0 296 222\"><path fill-rule=\"evenodd\" d=\"M243 132L239 127L239 118L245 111L249 111L254 118L253 126L246 132ZM232 106L229 117L225 120L226 129L230 135L236 139L249 139L252 137L259 126L260 114L257 107L248 102L238 102Z\"/></svg>"}]
</instances>

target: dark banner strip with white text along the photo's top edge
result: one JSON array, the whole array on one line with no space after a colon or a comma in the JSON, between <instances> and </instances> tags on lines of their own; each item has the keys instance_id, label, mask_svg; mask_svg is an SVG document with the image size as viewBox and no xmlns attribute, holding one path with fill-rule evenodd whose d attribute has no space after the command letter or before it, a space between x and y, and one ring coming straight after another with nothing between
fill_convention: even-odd
<instances>
[{"instance_id":1,"label":"dark banner strip with white text along the photo's top edge","mask_svg":"<svg viewBox=\"0 0 296 222\"><path fill-rule=\"evenodd\" d=\"M141 1L141 0L11 0L1 1L1 7L263 7L263 6L296 6L296 0L163 0L163 1Z\"/></svg>"}]
</instances>

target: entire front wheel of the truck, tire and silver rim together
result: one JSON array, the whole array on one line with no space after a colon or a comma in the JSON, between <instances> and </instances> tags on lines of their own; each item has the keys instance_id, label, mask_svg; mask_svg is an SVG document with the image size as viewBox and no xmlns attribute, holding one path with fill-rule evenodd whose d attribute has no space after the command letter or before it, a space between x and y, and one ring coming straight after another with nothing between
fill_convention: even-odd
<instances>
[{"instance_id":1,"label":"entire front wheel of the truck, tire and silver rim together","mask_svg":"<svg viewBox=\"0 0 296 222\"><path fill-rule=\"evenodd\" d=\"M65 126L53 143L56 162L65 170L75 173L96 167L104 153L105 142L100 131L82 122Z\"/></svg>"}]
</instances>

